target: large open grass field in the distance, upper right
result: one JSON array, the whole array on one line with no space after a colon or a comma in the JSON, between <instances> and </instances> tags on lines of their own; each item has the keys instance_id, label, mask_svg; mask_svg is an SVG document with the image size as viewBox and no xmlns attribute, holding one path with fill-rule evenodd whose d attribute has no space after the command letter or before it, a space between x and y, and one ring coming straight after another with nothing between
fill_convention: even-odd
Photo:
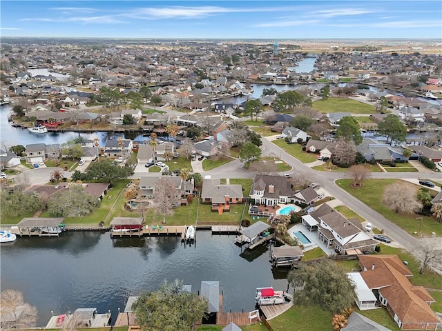
<instances>
[{"instance_id":1,"label":"large open grass field in the distance, upper right","mask_svg":"<svg viewBox=\"0 0 442 331\"><path fill-rule=\"evenodd\" d=\"M329 98L325 100L314 101L313 108L323 114L328 112L350 112L352 114L372 114L376 108L366 103L345 98Z\"/></svg>"}]
</instances>

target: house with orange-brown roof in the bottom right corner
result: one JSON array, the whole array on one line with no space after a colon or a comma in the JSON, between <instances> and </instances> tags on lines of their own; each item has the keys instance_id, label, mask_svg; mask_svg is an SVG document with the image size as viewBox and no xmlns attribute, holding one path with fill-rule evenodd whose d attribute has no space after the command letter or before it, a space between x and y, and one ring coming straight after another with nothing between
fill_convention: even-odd
<instances>
[{"instance_id":1,"label":"house with orange-brown roof in the bottom right corner","mask_svg":"<svg viewBox=\"0 0 442 331\"><path fill-rule=\"evenodd\" d=\"M359 265L367 288L399 328L436 330L440 320L430 308L434 299L425 288L410 283L412 272L397 255L360 255Z\"/></svg>"}]
</instances>

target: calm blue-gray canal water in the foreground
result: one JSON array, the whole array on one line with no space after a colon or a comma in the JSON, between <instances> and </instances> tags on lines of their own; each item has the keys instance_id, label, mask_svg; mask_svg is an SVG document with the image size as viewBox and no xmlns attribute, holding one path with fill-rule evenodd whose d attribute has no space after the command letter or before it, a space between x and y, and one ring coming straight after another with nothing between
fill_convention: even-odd
<instances>
[{"instance_id":1,"label":"calm blue-gray canal water in the foreground","mask_svg":"<svg viewBox=\"0 0 442 331\"><path fill-rule=\"evenodd\" d=\"M111 239L100 232L65 232L57 239L18 238L1 244L1 290L23 292L44 326L55 314L77 308L124 310L126 300L155 290L167 279L182 279L200 290L201 281L220 281L224 311L253 310L257 287L287 290L285 272L274 273L269 249L244 254L234 237L198 231L196 245L180 239ZM276 279L275 279L276 278Z\"/></svg>"}]
</instances>

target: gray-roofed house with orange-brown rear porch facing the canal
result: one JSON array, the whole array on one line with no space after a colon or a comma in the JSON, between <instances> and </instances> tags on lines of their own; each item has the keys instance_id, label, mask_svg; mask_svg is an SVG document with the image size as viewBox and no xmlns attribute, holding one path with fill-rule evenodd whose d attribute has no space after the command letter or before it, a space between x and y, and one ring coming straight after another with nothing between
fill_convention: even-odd
<instances>
[{"instance_id":1,"label":"gray-roofed house with orange-brown rear porch facing the canal","mask_svg":"<svg viewBox=\"0 0 442 331\"><path fill-rule=\"evenodd\" d=\"M230 212L232 204L242 203L242 185L221 184L220 179L204 179L202 182L201 202L211 203L212 211L218 214Z\"/></svg>"}]
</instances>

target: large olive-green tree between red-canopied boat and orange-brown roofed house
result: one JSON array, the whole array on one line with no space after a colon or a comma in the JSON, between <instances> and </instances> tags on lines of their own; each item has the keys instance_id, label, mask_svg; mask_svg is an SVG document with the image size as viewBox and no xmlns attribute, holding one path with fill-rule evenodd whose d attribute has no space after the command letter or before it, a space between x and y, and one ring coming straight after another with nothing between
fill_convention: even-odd
<instances>
[{"instance_id":1,"label":"large olive-green tree between red-canopied boat and orange-brown roofed house","mask_svg":"<svg viewBox=\"0 0 442 331\"><path fill-rule=\"evenodd\" d=\"M300 263L287 277L294 288L304 286L294 294L294 301L300 305L320 305L332 313L343 312L354 303L354 284L347 272L328 259L317 263Z\"/></svg>"}]
</instances>

